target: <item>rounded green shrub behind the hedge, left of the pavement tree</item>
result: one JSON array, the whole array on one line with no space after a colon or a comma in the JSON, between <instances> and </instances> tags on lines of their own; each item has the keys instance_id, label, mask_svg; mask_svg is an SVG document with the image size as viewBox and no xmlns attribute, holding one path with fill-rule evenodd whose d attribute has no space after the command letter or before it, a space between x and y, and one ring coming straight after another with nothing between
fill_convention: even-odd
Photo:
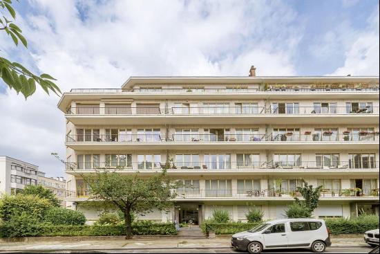
<instances>
[{"instance_id":1,"label":"rounded green shrub behind the hedge, left of the pavement tree","mask_svg":"<svg viewBox=\"0 0 380 254\"><path fill-rule=\"evenodd\" d=\"M84 225L86 217L79 211L54 207L46 211L44 221L53 225Z\"/></svg>"}]
</instances>

